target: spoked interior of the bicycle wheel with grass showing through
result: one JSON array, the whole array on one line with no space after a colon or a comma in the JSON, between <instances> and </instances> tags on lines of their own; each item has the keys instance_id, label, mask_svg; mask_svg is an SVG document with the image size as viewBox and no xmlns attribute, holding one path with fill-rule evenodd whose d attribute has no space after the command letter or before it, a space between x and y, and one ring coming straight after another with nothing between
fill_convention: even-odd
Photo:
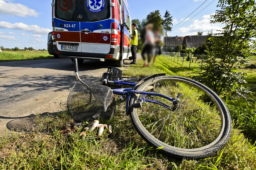
<instances>
[{"instance_id":1,"label":"spoked interior of the bicycle wheel with grass showing through","mask_svg":"<svg viewBox=\"0 0 256 170\"><path fill-rule=\"evenodd\" d=\"M146 95L148 101L136 109L144 130L156 140L180 149L197 149L211 144L219 136L223 117L218 102L197 84L158 77L148 81L140 90L172 98L184 94L177 103L161 96ZM137 97L141 99L142 95Z\"/></svg>"}]
</instances>

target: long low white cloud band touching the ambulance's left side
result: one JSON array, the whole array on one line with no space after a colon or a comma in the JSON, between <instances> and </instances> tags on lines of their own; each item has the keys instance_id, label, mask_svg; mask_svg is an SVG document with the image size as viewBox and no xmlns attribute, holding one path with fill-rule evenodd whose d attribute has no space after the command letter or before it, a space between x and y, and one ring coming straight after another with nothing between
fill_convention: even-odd
<instances>
[{"instance_id":1,"label":"long low white cloud band touching the ambulance's left side","mask_svg":"<svg viewBox=\"0 0 256 170\"><path fill-rule=\"evenodd\" d=\"M27 31L27 32L35 33L35 34L48 34L49 32L52 31L51 29L42 28L38 25L27 25L27 24L23 24L21 22L11 24L9 22L4 22L4 21L0 21L0 28Z\"/></svg>"}]
</instances>

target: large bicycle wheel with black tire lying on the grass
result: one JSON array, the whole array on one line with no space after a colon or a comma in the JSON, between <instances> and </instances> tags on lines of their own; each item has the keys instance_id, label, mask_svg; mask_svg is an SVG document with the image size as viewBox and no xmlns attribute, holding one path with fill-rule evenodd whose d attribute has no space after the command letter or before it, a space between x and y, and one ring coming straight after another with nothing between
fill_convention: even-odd
<instances>
[{"instance_id":1,"label":"large bicycle wheel with black tire lying on the grass","mask_svg":"<svg viewBox=\"0 0 256 170\"><path fill-rule=\"evenodd\" d=\"M176 158L202 159L217 153L228 141L231 118L220 97L207 86L179 76L160 76L143 82L134 90L179 97L180 104L159 96L144 98L160 101L144 102L139 109L131 108L130 117L140 136L151 146ZM151 90L147 90L147 87ZM140 98L139 98L140 97ZM143 100L132 94L129 105Z\"/></svg>"}]
</instances>

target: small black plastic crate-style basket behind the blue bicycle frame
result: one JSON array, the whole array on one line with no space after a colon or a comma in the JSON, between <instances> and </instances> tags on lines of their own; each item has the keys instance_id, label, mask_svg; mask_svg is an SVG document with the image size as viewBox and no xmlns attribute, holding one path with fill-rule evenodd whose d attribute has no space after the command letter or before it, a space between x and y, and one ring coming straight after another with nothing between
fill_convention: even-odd
<instances>
[{"instance_id":1,"label":"small black plastic crate-style basket behind the blue bicycle frame","mask_svg":"<svg viewBox=\"0 0 256 170\"><path fill-rule=\"evenodd\" d=\"M122 80L122 70L116 67L108 66L108 80L110 81ZM110 87L111 89L119 89L119 88L122 88L122 85L108 83L108 87Z\"/></svg>"}]
</instances>

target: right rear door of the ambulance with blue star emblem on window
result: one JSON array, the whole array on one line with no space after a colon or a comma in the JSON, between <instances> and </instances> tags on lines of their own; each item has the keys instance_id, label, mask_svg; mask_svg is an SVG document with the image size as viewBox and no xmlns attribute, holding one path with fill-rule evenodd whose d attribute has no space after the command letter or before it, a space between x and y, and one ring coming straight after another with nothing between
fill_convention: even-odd
<instances>
[{"instance_id":1,"label":"right rear door of the ambulance with blue star emblem on window","mask_svg":"<svg viewBox=\"0 0 256 170\"><path fill-rule=\"evenodd\" d=\"M80 4L80 33L83 53L110 52L112 8L110 0L83 0Z\"/></svg>"}]
</instances>

